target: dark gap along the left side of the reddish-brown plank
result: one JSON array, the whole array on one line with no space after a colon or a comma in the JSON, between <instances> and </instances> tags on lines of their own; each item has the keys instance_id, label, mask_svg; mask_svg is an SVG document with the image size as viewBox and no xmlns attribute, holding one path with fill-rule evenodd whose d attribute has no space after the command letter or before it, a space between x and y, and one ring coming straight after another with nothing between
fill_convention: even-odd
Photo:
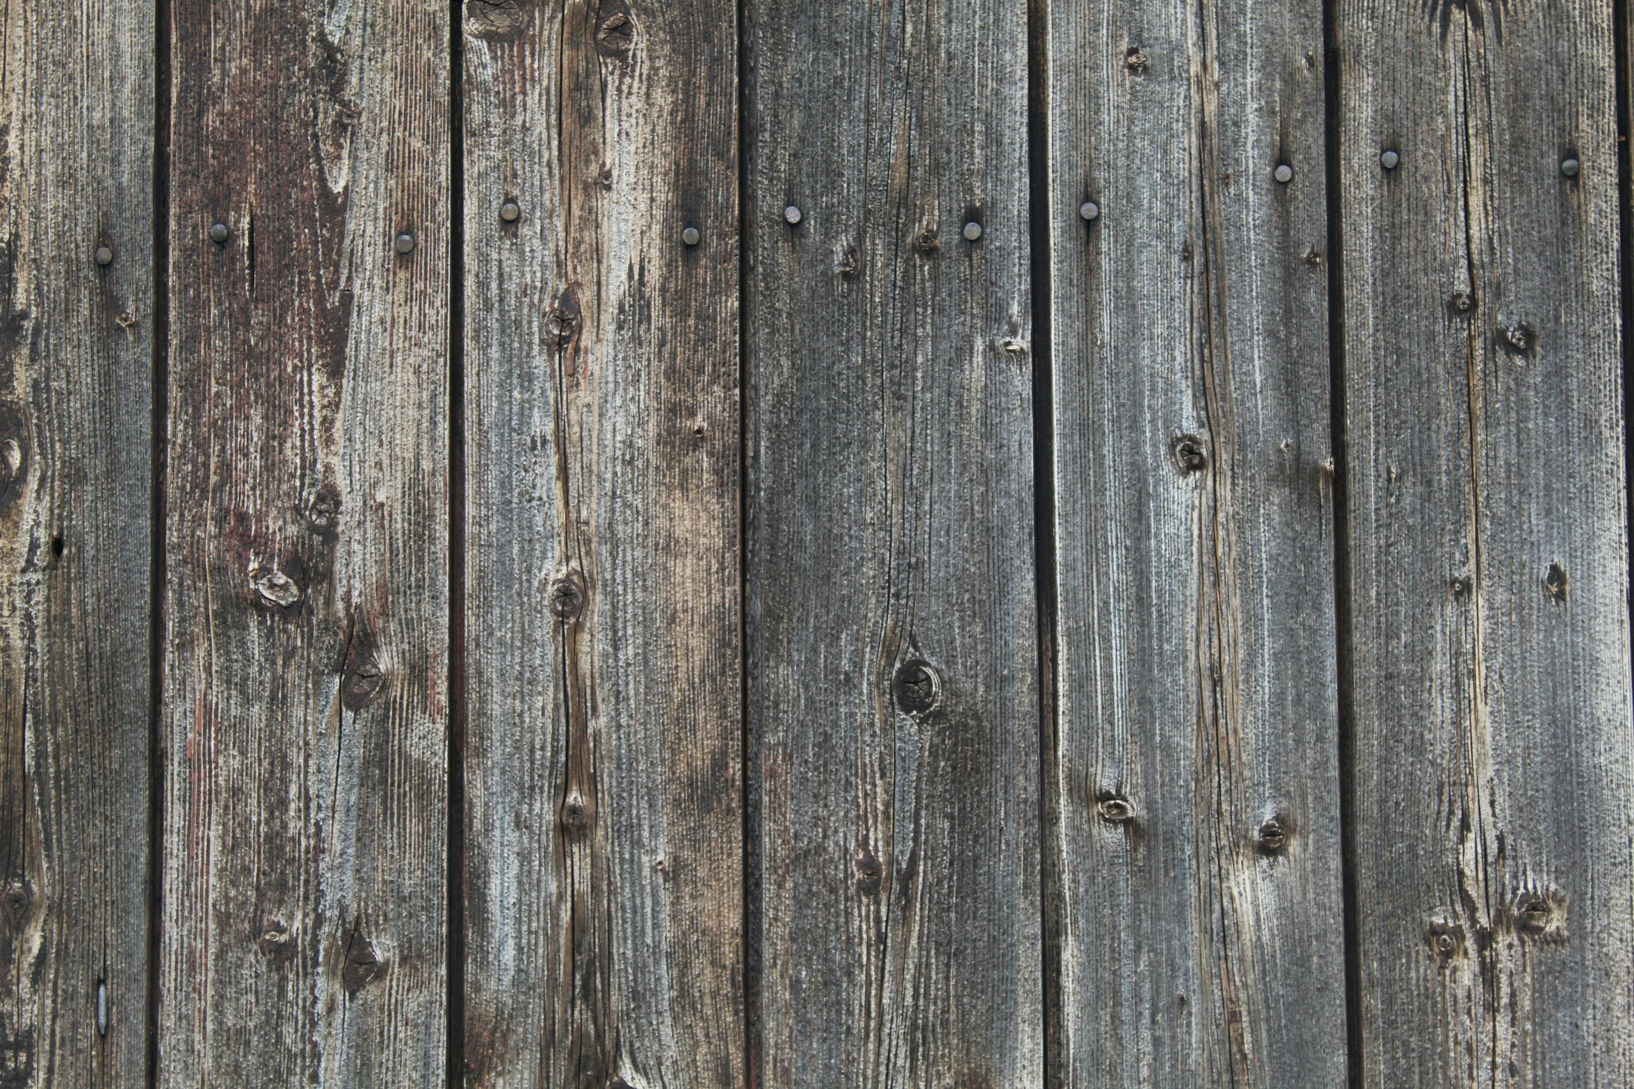
<instances>
[{"instance_id":1,"label":"dark gap along the left side of the reddish-brown plank","mask_svg":"<svg viewBox=\"0 0 1634 1089\"><path fill-rule=\"evenodd\" d=\"M160 738L165 648L165 421L170 403L170 0L154 5L154 364L149 405L147 602L147 1087L158 1084L163 967L165 774Z\"/></svg>"}]
</instances>

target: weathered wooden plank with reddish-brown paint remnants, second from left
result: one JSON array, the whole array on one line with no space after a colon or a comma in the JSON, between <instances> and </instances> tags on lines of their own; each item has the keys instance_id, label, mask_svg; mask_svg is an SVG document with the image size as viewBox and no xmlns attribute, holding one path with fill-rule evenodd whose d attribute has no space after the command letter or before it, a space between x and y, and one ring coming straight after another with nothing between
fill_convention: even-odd
<instances>
[{"instance_id":1,"label":"weathered wooden plank with reddish-brown paint remnants, second from left","mask_svg":"<svg viewBox=\"0 0 1634 1089\"><path fill-rule=\"evenodd\" d=\"M175 5L160 1086L443 1079L446 42Z\"/></svg>"}]
</instances>

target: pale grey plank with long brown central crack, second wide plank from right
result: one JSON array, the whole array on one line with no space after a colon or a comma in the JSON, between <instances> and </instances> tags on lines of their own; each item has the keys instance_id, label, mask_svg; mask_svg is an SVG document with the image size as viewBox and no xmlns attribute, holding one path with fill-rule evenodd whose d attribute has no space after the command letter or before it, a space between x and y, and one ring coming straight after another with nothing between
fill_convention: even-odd
<instances>
[{"instance_id":1,"label":"pale grey plank with long brown central crack, second wide plank from right","mask_svg":"<svg viewBox=\"0 0 1634 1089\"><path fill-rule=\"evenodd\" d=\"M1340 1086L1320 5L1044 29L1060 1084Z\"/></svg>"}]
</instances>

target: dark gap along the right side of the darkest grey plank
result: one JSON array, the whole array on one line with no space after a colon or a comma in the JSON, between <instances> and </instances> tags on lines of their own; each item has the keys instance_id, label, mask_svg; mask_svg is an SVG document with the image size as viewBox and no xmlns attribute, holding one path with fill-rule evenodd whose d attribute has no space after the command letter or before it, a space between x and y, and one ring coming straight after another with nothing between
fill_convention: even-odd
<instances>
[{"instance_id":1,"label":"dark gap along the right side of the darkest grey plank","mask_svg":"<svg viewBox=\"0 0 1634 1089\"><path fill-rule=\"evenodd\" d=\"M1028 2L1028 242L1033 304L1033 573L1039 684L1039 916L1042 936L1044 1087L1067 1082L1060 1020L1060 901L1056 828L1060 800L1056 718L1056 376L1051 362L1049 0Z\"/></svg>"}]
</instances>

